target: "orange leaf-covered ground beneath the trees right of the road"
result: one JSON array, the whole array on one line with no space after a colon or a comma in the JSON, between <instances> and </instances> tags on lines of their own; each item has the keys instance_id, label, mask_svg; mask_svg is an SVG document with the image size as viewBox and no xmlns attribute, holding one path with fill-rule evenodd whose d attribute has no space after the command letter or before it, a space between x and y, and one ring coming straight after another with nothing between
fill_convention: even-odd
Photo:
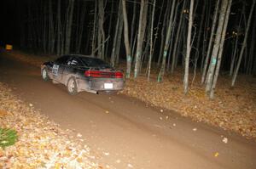
<instances>
[{"instance_id":1,"label":"orange leaf-covered ground beneath the trees right of the road","mask_svg":"<svg viewBox=\"0 0 256 169\"><path fill-rule=\"evenodd\" d=\"M246 138L256 138L256 78L239 76L235 87L230 78L219 76L215 99L209 99L201 86L201 74L189 75L189 93L183 94L183 70L165 76L156 82L157 74L148 82L146 76L127 80L121 93L141 99L152 106L175 110L193 121L203 121L224 130L240 133Z\"/></svg>"}]
</instances>

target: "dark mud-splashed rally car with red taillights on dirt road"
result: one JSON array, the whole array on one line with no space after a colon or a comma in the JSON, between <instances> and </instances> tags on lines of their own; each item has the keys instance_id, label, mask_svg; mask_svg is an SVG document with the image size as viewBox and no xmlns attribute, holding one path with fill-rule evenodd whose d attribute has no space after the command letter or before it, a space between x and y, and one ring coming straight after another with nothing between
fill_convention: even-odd
<instances>
[{"instance_id":1,"label":"dark mud-splashed rally car with red taillights on dirt road","mask_svg":"<svg viewBox=\"0 0 256 169\"><path fill-rule=\"evenodd\" d=\"M41 75L44 81L51 79L54 83L64 84L70 94L124 88L122 70L114 70L102 59L85 55L63 55L55 61L45 62L41 65Z\"/></svg>"}]
</instances>

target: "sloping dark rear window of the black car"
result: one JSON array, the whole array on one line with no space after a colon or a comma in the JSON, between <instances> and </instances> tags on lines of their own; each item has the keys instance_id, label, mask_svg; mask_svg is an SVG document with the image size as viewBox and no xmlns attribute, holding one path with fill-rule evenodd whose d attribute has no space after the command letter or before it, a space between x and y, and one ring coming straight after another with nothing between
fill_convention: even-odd
<instances>
[{"instance_id":1,"label":"sloping dark rear window of the black car","mask_svg":"<svg viewBox=\"0 0 256 169\"><path fill-rule=\"evenodd\" d=\"M79 57L84 65L87 67L96 67L100 69L113 69L108 63L104 62L102 59L89 58L89 57Z\"/></svg>"}]
</instances>

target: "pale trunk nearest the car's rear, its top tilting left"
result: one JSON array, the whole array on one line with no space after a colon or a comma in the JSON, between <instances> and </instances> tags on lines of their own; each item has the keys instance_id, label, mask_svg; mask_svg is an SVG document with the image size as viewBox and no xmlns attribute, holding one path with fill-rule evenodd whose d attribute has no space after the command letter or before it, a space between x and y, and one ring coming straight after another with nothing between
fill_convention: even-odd
<instances>
[{"instance_id":1,"label":"pale trunk nearest the car's rear, its top tilting left","mask_svg":"<svg viewBox=\"0 0 256 169\"><path fill-rule=\"evenodd\" d=\"M125 51L126 51L126 78L130 78L131 74L131 47L129 42L129 30L128 30L128 20L126 13L125 0L123 2L123 16L124 16L124 38L125 38Z\"/></svg>"}]
</instances>

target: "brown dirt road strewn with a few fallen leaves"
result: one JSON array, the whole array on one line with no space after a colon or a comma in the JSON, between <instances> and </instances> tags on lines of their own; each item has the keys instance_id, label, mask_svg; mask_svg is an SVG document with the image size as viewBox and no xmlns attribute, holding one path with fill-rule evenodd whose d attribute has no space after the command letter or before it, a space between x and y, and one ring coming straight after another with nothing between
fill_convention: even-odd
<instances>
[{"instance_id":1,"label":"brown dirt road strewn with a few fallen leaves","mask_svg":"<svg viewBox=\"0 0 256 169\"><path fill-rule=\"evenodd\" d=\"M107 168L256 168L253 141L123 95L71 96L44 82L37 67L3 54L0 81L63 129L81 133Z\"/></svg>"}]
</instances>

